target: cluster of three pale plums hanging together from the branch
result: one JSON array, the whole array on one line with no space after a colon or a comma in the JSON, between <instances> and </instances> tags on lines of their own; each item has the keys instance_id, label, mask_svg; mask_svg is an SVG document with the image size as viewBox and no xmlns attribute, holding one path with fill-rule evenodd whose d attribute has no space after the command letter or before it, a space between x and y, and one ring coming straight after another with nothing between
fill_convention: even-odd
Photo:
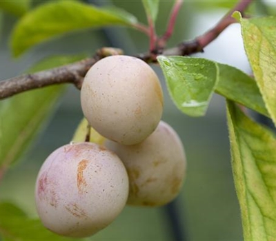
<instances>
[{"instance_id":1,"label":"cluster of three pale plums hanging together from the branch","mask_svg":"<svg viewBox=\"0 0 276 241\"><path fill-rule=\"evenodd\" d=\"M184 147L161 121L163 93L148 64L131 56L101 59L83 80L81 107L106 141L64 145L43 163L36 204L45 227L86 237L108 226L126 204L158 207L177 196Z\"/></svg>"}]
</instances>

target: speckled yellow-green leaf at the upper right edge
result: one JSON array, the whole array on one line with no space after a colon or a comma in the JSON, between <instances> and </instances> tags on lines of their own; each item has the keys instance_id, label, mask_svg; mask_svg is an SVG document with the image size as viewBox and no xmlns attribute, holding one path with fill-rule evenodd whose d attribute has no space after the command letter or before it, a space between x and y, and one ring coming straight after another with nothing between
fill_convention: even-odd
<instances>
[{"instance_id":1,"label":"speckled yellow-green leaf at the upper right edge","mask_svg":"<svg viewBox=\"0 0 276 241\"><path fill-rule=\"evenodd\" d=\"M276 125L276 17L242 19L239 12L234 17L242 25L246 54L266 109Z\"/></svg>"}]
</instances>

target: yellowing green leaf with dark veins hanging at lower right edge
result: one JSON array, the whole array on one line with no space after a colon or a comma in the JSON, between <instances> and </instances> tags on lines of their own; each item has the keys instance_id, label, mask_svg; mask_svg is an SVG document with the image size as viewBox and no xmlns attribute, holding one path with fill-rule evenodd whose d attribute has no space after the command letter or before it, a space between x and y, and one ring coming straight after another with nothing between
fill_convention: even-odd
<instances>
[{"instance_id":1,"label":"yellowing green leaf with dark veins hanging at lower right edge","mask_svg":"<svg viewBox=\"0 0 276 241\"><path fill-rule=\"evenodd\" d=\"M276 240L275 136L230 101L228 128L244 240Z\"/></svg>"}]
</instances>

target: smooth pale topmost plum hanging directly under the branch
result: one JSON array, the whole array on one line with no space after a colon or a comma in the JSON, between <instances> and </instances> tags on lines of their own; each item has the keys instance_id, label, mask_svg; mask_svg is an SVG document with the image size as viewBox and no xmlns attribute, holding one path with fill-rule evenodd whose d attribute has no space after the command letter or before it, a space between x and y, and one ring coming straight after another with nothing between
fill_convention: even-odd
<instances>
[{"instance_id":1,"label":"smooth pale topmost plum hanging directly under the branch","mask_svg":"<svg viewBox=\"0 0 276 241\"><path fill-rule=\"evenodd\" d=\"M108 56L88 70L81 107L102 136L124 145L140 143L157 127L163 92L157 74L132 56Z\"/></svg>"}]
</instances>

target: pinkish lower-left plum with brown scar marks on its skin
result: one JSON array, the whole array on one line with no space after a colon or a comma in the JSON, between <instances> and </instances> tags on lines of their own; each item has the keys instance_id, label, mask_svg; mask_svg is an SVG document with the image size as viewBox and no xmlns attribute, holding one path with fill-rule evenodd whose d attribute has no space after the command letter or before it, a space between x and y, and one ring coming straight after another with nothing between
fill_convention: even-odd
<instances>
[{"instance_id":1,"label":"pinkish lower-left plum with brown scar marks on its skin","mask_svg":"<svg viewBox=\"0 0 276 241\"><path fill-rule=\"evenodd\" d=\"M128 197L128 176L112 151L94 143L75 143L48 156L35 190L44 226L59 235L82 238L119 215Z\"/></svg>"}]
</instances>

